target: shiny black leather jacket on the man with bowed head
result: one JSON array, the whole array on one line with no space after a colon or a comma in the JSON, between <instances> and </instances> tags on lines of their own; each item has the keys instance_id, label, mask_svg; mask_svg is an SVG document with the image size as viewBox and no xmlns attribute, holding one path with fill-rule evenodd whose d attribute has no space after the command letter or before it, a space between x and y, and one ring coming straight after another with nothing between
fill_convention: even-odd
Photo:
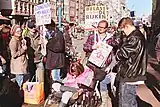
<instances>
[{"instance_id":1,"label":"shiny black leather jacket on the man with bowed head","mask_svg":"<svg viewBox=\"0 0 160 107\"><path fill-rule=\"evenodd\" d=\"M139 30L134 30L116 53L119 81L145 80L147 70L146 40Z\"/></svg>"}]
</instances>

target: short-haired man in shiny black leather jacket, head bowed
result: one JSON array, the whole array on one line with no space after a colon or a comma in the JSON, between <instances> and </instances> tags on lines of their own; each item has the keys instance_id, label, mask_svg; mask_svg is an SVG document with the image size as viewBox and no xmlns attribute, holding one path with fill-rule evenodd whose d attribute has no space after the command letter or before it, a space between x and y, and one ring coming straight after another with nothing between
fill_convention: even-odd
<instances>
[{"instance_id":1,"label":"short-haired man in shiny black leather jacket, head bowed","mask_svg":"<svg viewBox=\"0 0 160 107\"><path fill-rule=\"evenodd\" d=\"M119 83L118 107L137 107L136 85L144 83L146 79L146 40L130 18L122 18L118 26L126 35L126 40L116 53L118 61L116 80Z\"/></svg>"}]
</instances>

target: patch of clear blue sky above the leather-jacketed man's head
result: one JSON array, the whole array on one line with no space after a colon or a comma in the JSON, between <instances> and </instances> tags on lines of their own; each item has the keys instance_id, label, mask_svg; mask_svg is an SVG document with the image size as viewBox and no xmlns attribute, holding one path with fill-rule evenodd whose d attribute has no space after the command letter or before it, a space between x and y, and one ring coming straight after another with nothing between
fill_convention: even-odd
<instances>
[{"instance_id":1,"label":"patch of clear blue sky above the leather-jacketed man's head","mask_svg":"<svg viewBox=\"0 0 160 107\"><path fill-rule=\"evenodd\" d=\"M136 16L152 13L152 0L126 0L128 8L135 11Z\"/></svg>"}]
</instances>

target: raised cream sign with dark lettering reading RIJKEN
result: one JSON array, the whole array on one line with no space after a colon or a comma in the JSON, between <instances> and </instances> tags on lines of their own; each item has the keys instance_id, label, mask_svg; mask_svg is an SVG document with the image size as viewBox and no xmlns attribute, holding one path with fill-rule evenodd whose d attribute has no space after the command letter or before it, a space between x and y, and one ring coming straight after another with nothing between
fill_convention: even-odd
<instances>
[{"instance_id":1,"label":"raised cream sign with dark lettering reading RIJKEN","mask_svg":"<svg viewBox=\"0 0 160 107\"><path fill-rule=\"evenodd\" d=\"M101 20L106 20L107 13L106 6L104 5L92 5L85 7L85 25L89 28L92 26L97 26L98 22Z\"/></svg>"}]
</instances>

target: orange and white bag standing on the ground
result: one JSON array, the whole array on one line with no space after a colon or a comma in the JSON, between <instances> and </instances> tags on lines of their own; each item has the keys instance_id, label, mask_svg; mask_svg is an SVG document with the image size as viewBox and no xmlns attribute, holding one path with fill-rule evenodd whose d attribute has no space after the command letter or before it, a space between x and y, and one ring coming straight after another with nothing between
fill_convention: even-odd
<instances>
[{"instance_id":1,"label":"orange and white bag standing on the ground","mask_svg":"<svg viewBox=\"0 0 160 107\"><path fill-rule=\"evenodd\" d=\"M41 104L44 102L44 82L25 82L23 90L25 103Z\"/></svg>"}]
</instances>

